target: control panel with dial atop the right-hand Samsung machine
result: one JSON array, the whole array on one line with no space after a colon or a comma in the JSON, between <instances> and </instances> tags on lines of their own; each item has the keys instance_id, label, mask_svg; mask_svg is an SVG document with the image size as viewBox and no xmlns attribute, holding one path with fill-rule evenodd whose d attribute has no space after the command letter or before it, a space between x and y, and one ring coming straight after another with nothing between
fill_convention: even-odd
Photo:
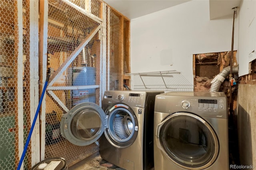
<instances>
[{"instance_id":1,"label":"control panel with dial atop the right-hand Samsung machine","mask_svg":"<svg viewBox=\"0 0 256 170\"><path fill-rule=\"evenodd\" d=\"M155 112L190 112L202 117L228 117L228 104L225 93L178 93L169 92L156 96Z\"/></svg>"}]
</instances>

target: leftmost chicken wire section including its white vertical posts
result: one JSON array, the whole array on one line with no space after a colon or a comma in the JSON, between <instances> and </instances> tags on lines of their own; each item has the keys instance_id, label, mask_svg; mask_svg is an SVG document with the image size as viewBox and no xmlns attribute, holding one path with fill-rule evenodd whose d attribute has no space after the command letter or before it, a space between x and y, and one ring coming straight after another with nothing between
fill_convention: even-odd
<instances>
[{"instance_id":1,"label":"leftmost chicken wire section including its white vertical posts","mask_svg":"<svg viewBox=\"0 0 256 170\"><path fill-rule=\"evenodd\" d=\"M16 169L38 105L38 0L0 2L0 167ZM40 161L39 121L21 169Z\"/></svg>"}]
</instances>

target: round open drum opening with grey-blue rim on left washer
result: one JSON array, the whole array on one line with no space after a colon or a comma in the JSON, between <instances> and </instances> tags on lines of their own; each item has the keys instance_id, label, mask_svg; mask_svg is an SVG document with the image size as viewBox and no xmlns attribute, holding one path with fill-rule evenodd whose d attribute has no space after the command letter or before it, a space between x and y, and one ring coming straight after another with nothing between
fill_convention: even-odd
<instances>
[{"instance_id":1,"label":"round open drum opening with grey-blue rim on left washer","mask_svg":"<svg viewBox=\"0 0 256 170\"><path fill-rule=\"evenodd\" d=\"M106 109L108 123L105 136L116 147L130 146L138 134L138 120L127 105L116 103Z\"/></svg>"}]
</instances>

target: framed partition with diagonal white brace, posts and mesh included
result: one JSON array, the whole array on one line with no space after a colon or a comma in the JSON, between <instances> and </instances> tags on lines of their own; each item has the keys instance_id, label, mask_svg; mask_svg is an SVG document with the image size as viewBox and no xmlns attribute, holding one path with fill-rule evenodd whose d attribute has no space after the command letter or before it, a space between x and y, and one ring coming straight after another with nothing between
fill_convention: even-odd
<instances>
[{"instance_id":1,"label":"framed partition with diagonal white brace, posts and mesh included","mask_svg":"<svg viewBox=\"0 0 256 170\"><path fill-rule=\"evenodd\" d=\"M106 90L123 89L124 72L130 70L130 21L101 0L40 3L40 82L51 70L40 117L41 160L63 157L71 166L99 146L68 142L60 135L60 119L79 103L101 106Z\"/></svg>"}]
</instances>

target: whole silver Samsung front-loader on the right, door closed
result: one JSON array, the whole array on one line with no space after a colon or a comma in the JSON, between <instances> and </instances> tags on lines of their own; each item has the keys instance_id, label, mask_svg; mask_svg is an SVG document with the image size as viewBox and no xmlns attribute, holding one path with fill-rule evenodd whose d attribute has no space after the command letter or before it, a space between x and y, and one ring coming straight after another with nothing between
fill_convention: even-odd
<instances>
[{"instance_id":1,"label":"whole silver Samsung front-loader on the right, door closed","mask_svg":"<svg viewBox=\"0 0 256 170\"><path fill-rule=\"evenodd\" d=\"M223 92L156 96L155 170L229 170L228 110Z\"/></svg>"}]
</instances>

